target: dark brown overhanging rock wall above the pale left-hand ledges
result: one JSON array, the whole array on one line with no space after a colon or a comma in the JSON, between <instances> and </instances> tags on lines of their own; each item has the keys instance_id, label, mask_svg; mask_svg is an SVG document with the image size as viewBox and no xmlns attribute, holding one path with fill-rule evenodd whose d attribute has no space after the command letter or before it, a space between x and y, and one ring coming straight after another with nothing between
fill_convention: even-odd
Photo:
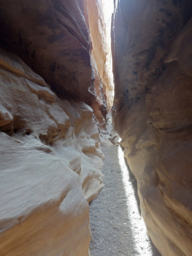
<instances>
[{"instance_id":1,"label":"dark brown overhanging rock wall above the pale left-hand ledges","mask_svg":"<svg viewBox=\"0 0 192 256\"><path fill-rule=\"evenodd\" d=\"M0 1L0 23L1 47L22 58L52 90L94 100L83 1Z\"/></svg>"}]
</instances>

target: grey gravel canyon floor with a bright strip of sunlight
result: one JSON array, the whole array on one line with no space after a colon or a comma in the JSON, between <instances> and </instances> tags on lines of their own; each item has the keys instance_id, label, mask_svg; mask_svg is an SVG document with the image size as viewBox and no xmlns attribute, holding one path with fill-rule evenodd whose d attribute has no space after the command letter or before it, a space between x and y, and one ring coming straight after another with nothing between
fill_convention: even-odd
<instances>
[{"instance_id":1,"label":"grey gravel canyon floor with a bright strip of sunlight","mask_svg":"<svg viewBox=\"0 0 192 256\"><path fill-rule=\"evenodd\" d=\"M120 145L102 148L105 187L90 203L91 256L159 256L143 230L137 182Z\"/></svg>"}]
</instances>

